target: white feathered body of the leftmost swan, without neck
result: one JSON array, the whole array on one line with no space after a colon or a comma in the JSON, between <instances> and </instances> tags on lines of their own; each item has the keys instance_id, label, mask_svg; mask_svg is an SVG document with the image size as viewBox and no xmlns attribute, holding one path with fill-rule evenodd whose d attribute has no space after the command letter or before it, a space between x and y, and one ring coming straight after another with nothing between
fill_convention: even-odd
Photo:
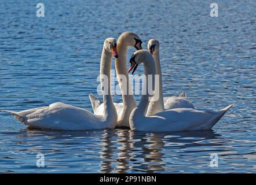
<instances>
[{"instance_id":1,"label":"white feathered body of the leftmost swan, without neck","mask_svg":"<svg viewBox=\"0 0 256 185\"><path fill-rule=\"evenodd\" d=\"M103 116L96 116L82 108L61 102L52 103L43 108L25 110L23 112L11 112L21 123L30 128L56 129L56 130L83 130L114 128L113 125L104 123Z\"/></svg>"}]
</instances>

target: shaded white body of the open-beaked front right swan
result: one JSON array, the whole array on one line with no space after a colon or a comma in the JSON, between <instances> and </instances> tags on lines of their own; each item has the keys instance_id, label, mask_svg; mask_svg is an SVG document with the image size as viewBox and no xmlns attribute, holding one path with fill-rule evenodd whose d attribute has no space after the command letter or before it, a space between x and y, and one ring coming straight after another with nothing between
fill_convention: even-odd
<instances>
[{"instance_id":1,"label":"shaded white body of the open-beaked front right swan","mask_svg":"<svg viewBox=\"0 0 256 185\"><path fill-rule=\"evenodd\" d=\"M136 113L136 110L134 110L131 114L130 127L137 131L152 132L211 129L232 106L233 104L219 111L177 108L143 118L134 116L134 113Z\"/></svg>"}]
</instances>

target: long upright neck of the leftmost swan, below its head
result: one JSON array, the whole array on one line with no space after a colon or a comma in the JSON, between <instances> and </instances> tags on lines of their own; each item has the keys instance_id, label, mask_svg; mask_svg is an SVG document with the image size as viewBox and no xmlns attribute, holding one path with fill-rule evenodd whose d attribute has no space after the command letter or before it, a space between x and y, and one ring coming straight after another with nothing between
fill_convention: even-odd
<instances>
[{"instance_id":1,"label":"long upright neck of the leftmost swan, below its head","mask_svg":"<svg viewBox=\"0 0 256 185\"><path fill-rule=\"evenodd\" d=\"M112 95L111 95L111 76L110 76L111 60L112 60L112 53L105 50L103 46L103 51L101 54L101 62L100 62L100 79L101 79L101 92L103 93L103 102L104 102L104 116L106 119L111 117L111 115L114 115L114 112L116 112Z\"/></svg>"}]
</instances>

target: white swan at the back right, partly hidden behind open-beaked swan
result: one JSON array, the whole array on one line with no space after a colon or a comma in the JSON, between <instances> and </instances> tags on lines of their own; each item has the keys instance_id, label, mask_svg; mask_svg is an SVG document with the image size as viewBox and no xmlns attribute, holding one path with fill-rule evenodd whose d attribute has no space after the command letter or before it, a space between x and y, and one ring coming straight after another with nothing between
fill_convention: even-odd
<instances>
[{"instance_id":1,"label":"white swan at the back right, partly hidden behind open-beaked swan","mask_svg":"<svg viewBox=\"0 0 256 185\"><path fill-rule=\"evenodd\" d=\"M179 97L171 96L163 98L163 83L162 83L162 71L159 57L160 43L156 39L148 41L148 50L152 54L156 64L156 75L159 75L159 99L149 103L147 116L152 116L155 113L162 112L163 110L175 109L175 108L192 108L195 109L193 104L189 101L186 94L182 92ZM157 93L157 92L156 92Z\"/></svg>"}]
</instances>

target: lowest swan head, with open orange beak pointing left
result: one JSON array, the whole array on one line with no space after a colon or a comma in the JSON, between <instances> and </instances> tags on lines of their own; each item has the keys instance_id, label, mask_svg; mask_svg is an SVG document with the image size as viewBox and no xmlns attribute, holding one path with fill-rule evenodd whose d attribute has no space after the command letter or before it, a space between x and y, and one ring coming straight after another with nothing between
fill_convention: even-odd
<instances>
[{"instance_id":1,"label":"lowest swan head, with open orange beak pointing left","mask_svg":"<svg viewBox=\"0 0 256 185\"><path fill-rule=\"evenodd\" d=\"M151 53L149 53L148 50L138 50L136 52L134 52L132 55L131 55L131 58L130 58L130 68L128 69L128 72L131 71L131 69L133 69L133 72L131 74L133 74L138 65L140 65L141 63L147 61L147 58L152 58L152 55Z\"/></svg>"}]
</instances>

